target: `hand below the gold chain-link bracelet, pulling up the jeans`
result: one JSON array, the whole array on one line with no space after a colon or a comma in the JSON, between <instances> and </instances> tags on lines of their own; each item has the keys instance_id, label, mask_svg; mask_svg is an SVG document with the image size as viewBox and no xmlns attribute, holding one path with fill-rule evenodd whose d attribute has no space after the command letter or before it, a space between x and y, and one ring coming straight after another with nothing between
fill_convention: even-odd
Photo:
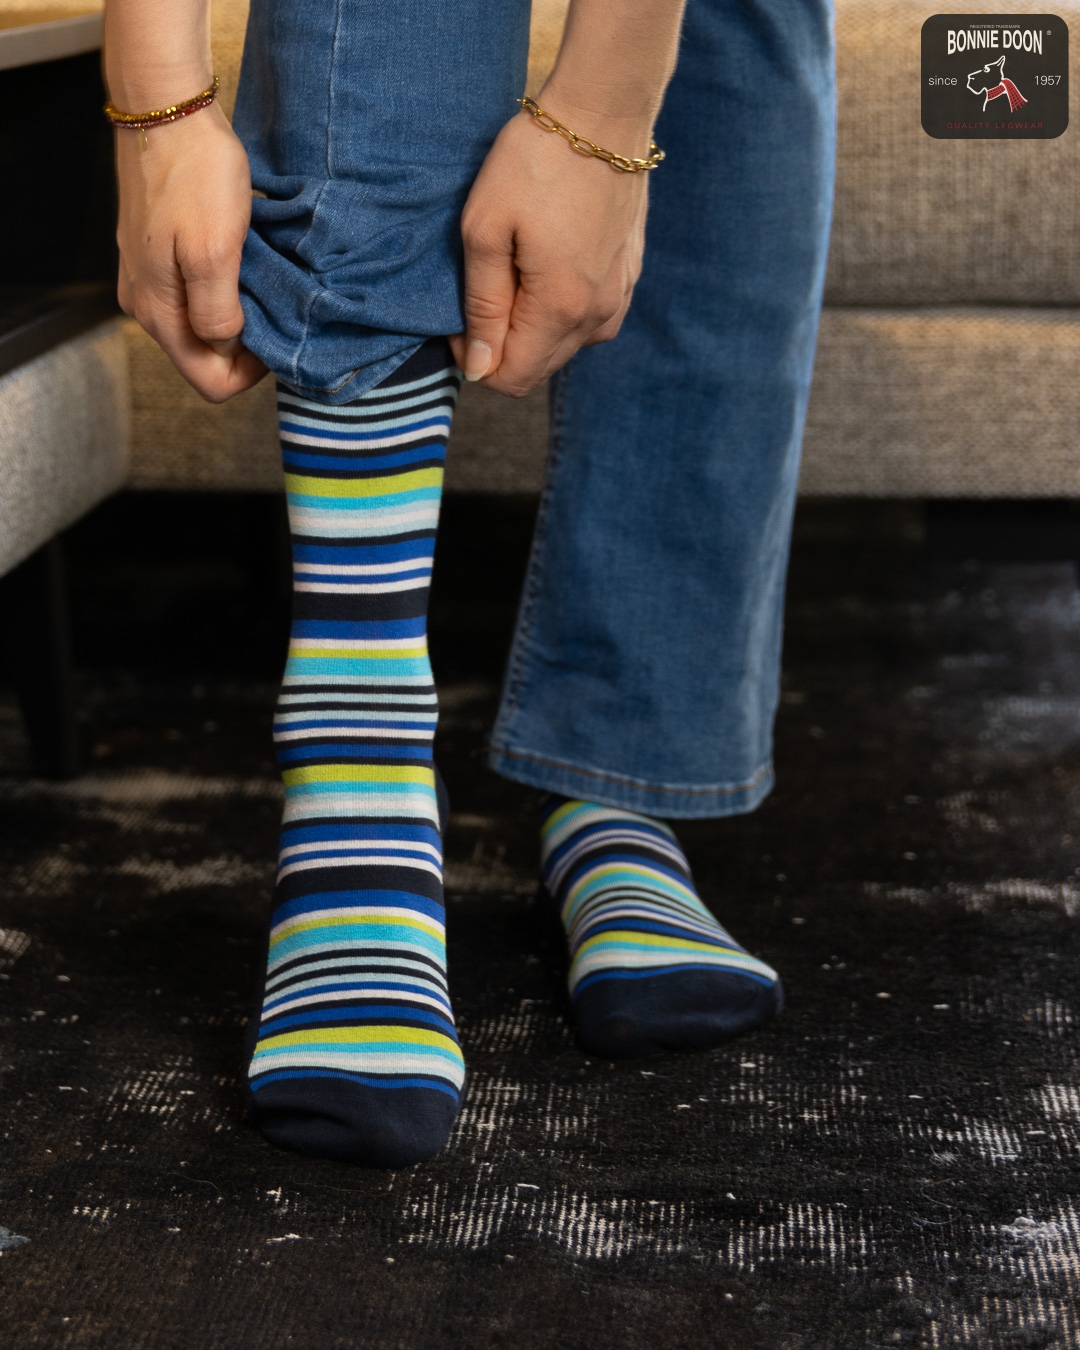
<instances>
[{"instance_id":1,"label":"hand below the gold chain-link bracelet, pulling up the jeans","mask_svg":"<svg viewBox=\"0 0 1080 1350\"><path fill-rule=\"evenodd\" d=\"M597 144L648 153L648 127L554 97L551 111ZM506 123L462 216L467 332L451 346L467 379L520 398L579 347L614 338L641 271L648 177L575 153L529 113Z\"/></svg>"}]
</instances>

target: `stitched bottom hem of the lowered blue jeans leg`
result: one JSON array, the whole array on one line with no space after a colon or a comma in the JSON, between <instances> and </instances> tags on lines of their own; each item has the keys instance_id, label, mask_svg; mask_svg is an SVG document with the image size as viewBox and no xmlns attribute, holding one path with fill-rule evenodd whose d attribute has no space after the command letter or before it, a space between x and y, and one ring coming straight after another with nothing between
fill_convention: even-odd
<instances>
[{"instance_id":1,"label":"stitched bottom hem of the lowered blue jeans leg","mask_svg":"<svg viewBox=\"0 0 1080 1350\"><path fill-rule=\"evenodd\" d=\"M756 810L772 791L772 764L763 764L745 783L710 783L693 787L687 783L644 783L609 774L605 770L566 764L528 751L493 745L486 755L487 767L502 778L525 783L560 796L576 796L624 811L641 811L668 819L709 819L720 815L745 815Z\"/></svg>"}]
</instances>

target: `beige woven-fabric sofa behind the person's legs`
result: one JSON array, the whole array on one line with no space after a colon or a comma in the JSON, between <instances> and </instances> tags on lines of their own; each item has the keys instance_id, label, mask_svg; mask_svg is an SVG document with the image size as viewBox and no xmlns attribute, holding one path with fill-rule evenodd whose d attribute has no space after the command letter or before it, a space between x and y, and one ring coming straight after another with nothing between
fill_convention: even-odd
<instances>
[{"instance_id":1,"label":"beige woven-fabric sofa behind the person's legs","mask_svg":"<svg viewBox=\"0 0 1080 1350\"><path fill-rule=\"evenodd\" d=\"M215 3L230 88L243 8ZM1045 11L1034 0L1008 8ZM1080 0L1054 9L1080 32ZM953 0L952 12L983 11ZM1049 142L926 136L918 66L929 12L913 0L838 0L836 220L802 491L1080 495L1080 127ZM536 0L533 88L560 22L559 0ZM279 486L269 382L209 408L132 324L127 340L134 486ZM448 487L535 491L545 431L543 392L510 402L467 389Z\"/></svg>"}]
</instances>

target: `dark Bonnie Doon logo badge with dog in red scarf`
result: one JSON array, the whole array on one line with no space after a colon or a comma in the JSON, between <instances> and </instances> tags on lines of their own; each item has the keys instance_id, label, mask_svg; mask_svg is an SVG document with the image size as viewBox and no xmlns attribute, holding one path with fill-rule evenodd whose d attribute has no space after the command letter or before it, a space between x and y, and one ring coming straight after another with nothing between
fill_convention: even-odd
<instances>
[{"instance_id":1,"label":"dark Bonnie Doon logo badge with dog in red scarf","mask_svg":"<svg viewBox=\"0 0 1080 1350\"><path fill-rule=\"evenodd\" d=\"M1057 15L936 14L922 26L929 136L1052 140L1068 124L1069 30Z\"/></svg>"}]
</instances>

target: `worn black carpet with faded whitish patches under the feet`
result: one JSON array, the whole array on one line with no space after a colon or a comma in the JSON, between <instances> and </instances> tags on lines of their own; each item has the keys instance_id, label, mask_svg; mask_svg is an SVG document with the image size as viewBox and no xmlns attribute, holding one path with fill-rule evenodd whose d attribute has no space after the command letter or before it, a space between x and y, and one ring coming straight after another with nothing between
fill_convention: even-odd
<instances>
[{"instance_id":1,"label":"worn black carpet with faded whitish patches under the feet","mask_svg":"<svg viewBox=\"0 0 1080 1350\"><path fill-rule=\"evenodd\" d=\"M479 760L528 504L447 506L450 1148L278 1153L238 1071L270 891L266 513L120 500L72 540L88 772L0 780L0 1342L36 1347L1080 1345L1080 594L807 505L779 787L680 828L788 1010L590 1060L532 802ZM228 537L230 543L221 543ZM278 559L279 562L279 559Z\"/></svg>"}]
</instances>

